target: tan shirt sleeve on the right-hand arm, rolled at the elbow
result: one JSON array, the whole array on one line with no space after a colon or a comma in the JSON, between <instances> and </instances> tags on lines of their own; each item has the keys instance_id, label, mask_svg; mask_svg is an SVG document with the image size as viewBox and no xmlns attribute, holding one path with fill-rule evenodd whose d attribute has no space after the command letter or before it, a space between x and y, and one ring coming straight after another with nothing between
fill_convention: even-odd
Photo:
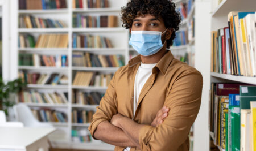
<instances>
[{"instance_id":1,"label":"tan shirt sleeve on the right-hand arm, rolled at the elbow","mask_svg":"<svg viewBox=\"0 0 256 151\"><path fill-rule=\"evenodd\" d=\"M158 127L145 125L139 132L142 150L177 150L188 137L201 103L203 77L193 70L181 74L172 85L164 105L168 116Z\"/></svg>"}]
</instances>

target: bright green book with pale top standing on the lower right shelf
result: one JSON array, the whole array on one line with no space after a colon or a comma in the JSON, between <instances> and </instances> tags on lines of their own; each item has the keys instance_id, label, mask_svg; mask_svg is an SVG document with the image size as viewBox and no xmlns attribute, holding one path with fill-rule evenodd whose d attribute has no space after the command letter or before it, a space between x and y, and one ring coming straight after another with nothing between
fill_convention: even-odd
<instances>
[{"instance_id":1,"label":"bright green book with pale top standing on the lower right shelf","mask_svg":"<svg viewBox=\"0 0 256 151\"><path fill-rule=\"evenodd\" d=\"M240 108L229 106L231 123L231 148L229 150L240 150Z\"/></svg>"}]
</instances>

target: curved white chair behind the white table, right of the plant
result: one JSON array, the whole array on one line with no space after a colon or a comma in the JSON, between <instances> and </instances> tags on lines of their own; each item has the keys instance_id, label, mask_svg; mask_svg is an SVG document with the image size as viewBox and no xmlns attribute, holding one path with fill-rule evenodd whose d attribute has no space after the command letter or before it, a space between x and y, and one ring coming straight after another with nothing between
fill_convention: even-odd
<instances>
[{"instance_id":1,"label":"curved white chair behind the white table, right of the plant","mask_svg":"<svg viewBox=\"0 0 256 151\"><path fill-rule=\"evenodd\" d=\"M51 123L39 122L27 105L22 103L14 105L15 117L25 127L53 127Z\"/></svg>"}]
</instances>

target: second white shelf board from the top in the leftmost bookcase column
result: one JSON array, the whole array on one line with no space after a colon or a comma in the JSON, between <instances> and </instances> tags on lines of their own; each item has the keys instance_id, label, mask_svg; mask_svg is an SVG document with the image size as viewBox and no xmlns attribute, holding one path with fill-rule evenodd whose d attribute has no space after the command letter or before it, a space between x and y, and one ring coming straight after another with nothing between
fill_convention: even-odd
<instances>
[{"instance_id":1,"label":"second white shelf board from the top in the leftmost bookcase column","mask_svg":"<svg viewBox=\"0 0 256 151\"><path fill-rule=\"evenodd\" d=\"M68 32L68 28L19 28L19 33L47 33L47 32Z\"/></svg>"}]
</instances>

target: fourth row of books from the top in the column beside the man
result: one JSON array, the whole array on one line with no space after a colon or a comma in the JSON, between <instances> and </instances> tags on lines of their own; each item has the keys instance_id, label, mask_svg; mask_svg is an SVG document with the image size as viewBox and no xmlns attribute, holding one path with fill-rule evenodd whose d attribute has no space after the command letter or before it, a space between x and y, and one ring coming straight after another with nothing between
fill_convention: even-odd
<instances>
[{"instance_id":1,"label":"fourth row of books from the top in the column beside the man","mask_svg":"<svg viewBox=\"0 0 256 151\"><path fill-rule=\"evenodd\" d=\"M83 52L73 52L73 66L79 67L121 67L125 65L122 55L98 55Z\"/></svg>"}]
</instances>

